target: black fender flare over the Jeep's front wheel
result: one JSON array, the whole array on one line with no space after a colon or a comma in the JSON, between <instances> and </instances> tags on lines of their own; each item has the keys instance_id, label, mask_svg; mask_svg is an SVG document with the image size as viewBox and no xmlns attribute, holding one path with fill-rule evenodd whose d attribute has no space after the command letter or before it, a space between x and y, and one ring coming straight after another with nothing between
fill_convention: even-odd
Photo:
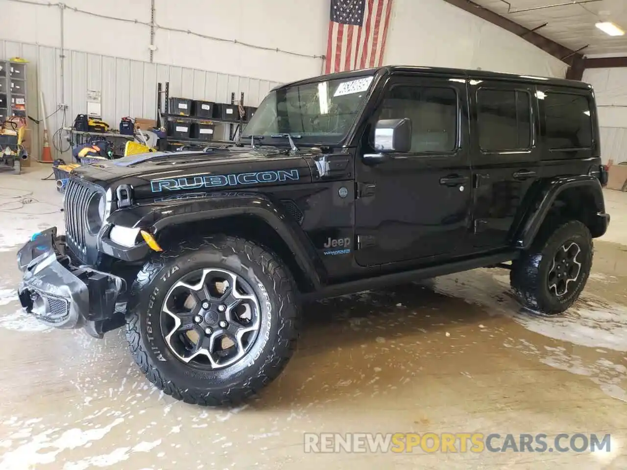
<instances>
[{"instance_id":1,"label":"black fender flare over the Jeep's front wheel","mask_svg":"<svg viewBox=\"0 0 627 470\"><path fill-rule=\"evenodd\" d=\"M217 192L177 195L124 211L113 212L108 223L126 227L150 227L155 236L164 228L207 219L253 216L266 222L294 254L298 267L314 290L319 290L326 271L305 232L279 204L264 194Z\"/></svg>"}]
</instances>

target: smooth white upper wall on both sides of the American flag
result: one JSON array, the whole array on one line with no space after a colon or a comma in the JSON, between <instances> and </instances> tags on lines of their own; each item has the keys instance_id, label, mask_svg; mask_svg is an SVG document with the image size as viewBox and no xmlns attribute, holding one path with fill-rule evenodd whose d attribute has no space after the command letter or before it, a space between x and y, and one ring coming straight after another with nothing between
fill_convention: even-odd
<instances>
[{"instance_id":1,"label":"smooth white upper wall on both sides of the American flag","mask_svg":"<svg viewBox=\"0 0 627 470\"><path fill-rule=\"evenodd\" d=\"M88 16L71 8L149 23L150 0L65 0L65 4L66 49L149 60L149 26ZM322 71L322 60L312 56L327 50L329 0L155 0L155 8L159 26L310 56L157 28L155 63L282 82ZM60 46L58 7L0 0L0 11L5 26L0 28L0 38ZM19 22L19 28L9 26L13 21ZM551 55L443 0L394 1L384 62L549 76L566 73L566 65Z\"/></svg>"}]
</instances>

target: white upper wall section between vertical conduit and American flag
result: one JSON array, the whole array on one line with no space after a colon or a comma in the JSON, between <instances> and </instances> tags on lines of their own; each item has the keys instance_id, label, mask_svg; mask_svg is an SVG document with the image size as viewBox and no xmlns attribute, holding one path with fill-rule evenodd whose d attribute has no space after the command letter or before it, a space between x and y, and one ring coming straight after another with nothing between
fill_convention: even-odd
<instances>
[{"instance_id":1,"label":"white upper wall section between vertical conduit and American flag","mask_svg":"<svg viewBox=\"0 0 627 470\"><path fill-rule=\"evenodd\" d=\"M157 0L157 23L218 38L306 55L326 51L329 3L326 0ZM195 12L199 14L196 15ZM159 31L162 63L292 81L322 73L321 58L305 58L230 43Z\"/></svg>"}]
</instances>

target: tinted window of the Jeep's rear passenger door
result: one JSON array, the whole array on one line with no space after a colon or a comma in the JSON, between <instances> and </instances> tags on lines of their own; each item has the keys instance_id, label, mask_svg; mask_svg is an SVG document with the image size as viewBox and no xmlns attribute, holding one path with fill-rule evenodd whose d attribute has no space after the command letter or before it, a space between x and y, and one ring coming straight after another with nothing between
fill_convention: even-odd
<instances>
[{"instance_id":1,"label":"tinted window of the Jeep's rear passenger door","mask_svg":"<svg viewBox=\"0 0 627 470\"><path fill-rule=\"evenodd\" d=\"M477 92L479 146L487 152L531 147L531 98L524 90Z\"/></svg>"}]
</instances>

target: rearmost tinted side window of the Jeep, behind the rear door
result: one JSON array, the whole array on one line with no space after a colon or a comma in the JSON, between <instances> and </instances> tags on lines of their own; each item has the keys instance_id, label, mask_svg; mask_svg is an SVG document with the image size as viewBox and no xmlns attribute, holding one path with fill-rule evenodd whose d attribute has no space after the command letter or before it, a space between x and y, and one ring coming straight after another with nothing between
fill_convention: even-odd
<instances>
[{"instance_id":1,"label":"rearmost tinted side window of the Jeep, behind the rear door","mask_svg":"<svg viewBox=\"0 0 627 470\"><path fill-rule=\"evenodd\" d=\"M590 103L583 95L546 93L546 141L549 149L592 147Z\"/></svg>"}]
</instances>

